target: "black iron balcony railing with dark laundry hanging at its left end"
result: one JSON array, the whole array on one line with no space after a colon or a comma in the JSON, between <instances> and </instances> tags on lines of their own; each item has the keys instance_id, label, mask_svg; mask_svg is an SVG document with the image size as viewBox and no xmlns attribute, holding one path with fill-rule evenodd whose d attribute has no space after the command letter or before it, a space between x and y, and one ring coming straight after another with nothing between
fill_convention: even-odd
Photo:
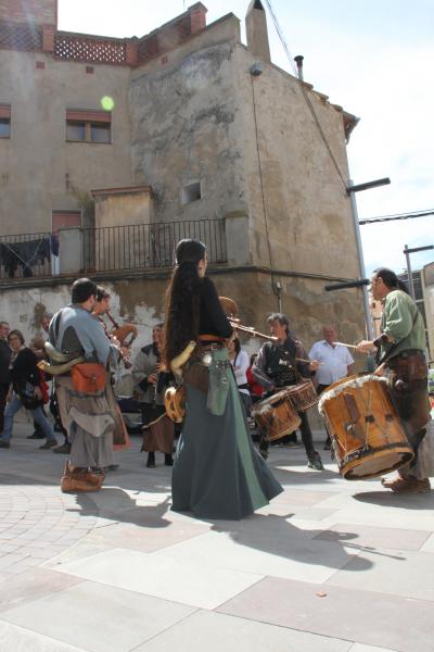
<instances>
[{"instance_id":1,"label":"black iron balcony railing with dark laundry hanging at its left end","mask_svg":"<svg viewBox=\"0 0 434 652\"><path fill-rule=\"evenodd\" d=\"M107 226L0 236L0 279L71 275L72 261L82 274L169 267L182 238L205 242L210 263L227 262L225 220Z\"/></svg>"}]
</instances>

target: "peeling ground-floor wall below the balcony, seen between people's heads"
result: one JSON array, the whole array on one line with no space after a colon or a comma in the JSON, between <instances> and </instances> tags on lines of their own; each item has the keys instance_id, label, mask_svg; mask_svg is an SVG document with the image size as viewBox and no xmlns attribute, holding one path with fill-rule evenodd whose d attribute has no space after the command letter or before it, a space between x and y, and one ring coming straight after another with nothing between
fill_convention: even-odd
<instances>
[{"instance_id":1,"label":"peeling ground-floor wall below the balcony, seen between people's heads","mask_svg":"<svg viewBox=\"0 0 434 652\"><path fill-rule=\"evenodd\" d=\"M272 292L269 276L264 273L235 273L216 268L210 271L220 296L237 301L243 324L267 333L267 316L278 311L278 298ZM139 326L140 336L135 347L150 340L152 327L163 317L164 296L168 284L166 278L131 278L128 280L98 281L112 294L112 315L118 321ZM0 293L0 319L11 327L23 330L29 339L40 329L44 311L55 312L69 302L69 285L53 287L16 287ZM354 312L354 301L362 304L358 290L324 293L317 280L292 279L284 281L282 310L291 321L292 329L306 347L322 339L322 326L334 322L344 341L355 342L362 330L358 312ZM254 352L259 340L250 341L243 336L250 352Z\"/></svg>"}]
</instances>

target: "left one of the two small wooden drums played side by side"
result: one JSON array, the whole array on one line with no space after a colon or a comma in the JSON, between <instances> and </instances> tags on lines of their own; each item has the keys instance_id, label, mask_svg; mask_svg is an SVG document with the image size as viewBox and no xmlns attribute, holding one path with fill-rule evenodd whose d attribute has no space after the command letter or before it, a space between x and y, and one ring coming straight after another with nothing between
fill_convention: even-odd
<instances>
[{"instance_id":1,"label":"left one of the two small wooden drums played side by side","mask_svg":"<svg viewBox=\"0 0 434 652\"><path fill-rule=\"evenodd\" d=\"M286 389L256 403L252 414L261 435L268 441L280 439L293 432L302 423Z\"/></svg>"}]
</instances>

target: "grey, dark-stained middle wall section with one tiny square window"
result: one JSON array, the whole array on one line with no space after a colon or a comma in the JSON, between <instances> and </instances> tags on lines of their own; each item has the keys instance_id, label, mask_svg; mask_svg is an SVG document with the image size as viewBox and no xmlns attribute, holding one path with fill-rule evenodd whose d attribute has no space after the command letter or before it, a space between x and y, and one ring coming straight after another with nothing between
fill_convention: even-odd
<instances>
[{"instance_id":1,"label":"grey, dark-stained middle wall section with one tiny square window","mask_svg":"<svg viewBox=\"0 0 434 652\"><path fill-rule=\"evenodd\" d=\"M133 173L155 192L156 221L222 217L246 206L234 38L133 74ZM182 187L195 181L202 199L182 205Z\"/></svg>"}]
</instances>

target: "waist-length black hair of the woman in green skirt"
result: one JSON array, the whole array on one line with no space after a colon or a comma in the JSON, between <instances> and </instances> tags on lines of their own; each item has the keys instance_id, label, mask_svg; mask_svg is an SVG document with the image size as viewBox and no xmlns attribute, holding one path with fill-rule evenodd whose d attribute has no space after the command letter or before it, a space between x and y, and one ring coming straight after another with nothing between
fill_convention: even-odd
<instances>
[{"instance_id":1,"label":"waist-length black hair of the woman in green skirt","mask_svg":"<svg viewBox=\"0 0 434 652\"><path fill-rule=\"evenodd\" d=\"M176 248L176 265L166 292L164 359L167 366L197 338L201 277L197 263L205 258L206 247L199 240L180 240Z\"/></svg>"}]
</instances>

